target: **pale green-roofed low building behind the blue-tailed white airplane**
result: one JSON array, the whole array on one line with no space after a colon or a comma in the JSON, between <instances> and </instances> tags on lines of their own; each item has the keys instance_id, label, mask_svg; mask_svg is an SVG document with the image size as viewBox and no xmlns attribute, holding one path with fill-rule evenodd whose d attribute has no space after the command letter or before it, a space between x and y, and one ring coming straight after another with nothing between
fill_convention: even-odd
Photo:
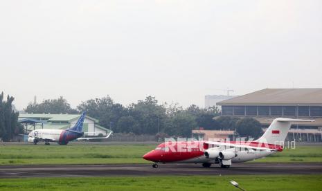
<instances>
[{"instance_id":1,"label":"pale green-roofed low building behind the blue-tailed white airplane","mask_svg":"<svg viewBox=\"0 0 322 191\"><path fill-rule=\"evenodd\" d=\"M80 115L71 115L71 114L33 114L33 113L24 113L19 114L19 121L36 121L37 125L26 124L24 129L26 131L32 131L33 129L68 129L73 127L77 122ZM102 134L106 136L109 133L109 129L98 125L98 120L85 116L83 129L86 136L98 136Z\"/></svg>"}]
</instances>

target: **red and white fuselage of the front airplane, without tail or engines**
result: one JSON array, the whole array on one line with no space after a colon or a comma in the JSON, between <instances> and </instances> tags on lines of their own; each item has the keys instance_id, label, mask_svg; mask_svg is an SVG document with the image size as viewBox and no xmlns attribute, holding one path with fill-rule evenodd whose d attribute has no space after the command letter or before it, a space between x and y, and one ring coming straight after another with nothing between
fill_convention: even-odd
<instances>
[{"instance_id":1,"label":"red and white fuselage of the front airplane, without tail or engines","mask_svg":"<svg viewBox=\"0 0 322 191\"><path fill-rule=\"evenodd\" d=\"M215 151L231 152L234 154L229 160L231 163L242 163L246 161L253 161L257 158L269 156L276 152L281 152L283 148L280 145L262 144L256 142L229 142L231 144L247 144L256 147L267 147L272 150L260 150L260 149L244 149L244 148L230 148L227 146L212 147L212 145L205 144L205 141L191 142L173 142L173 143L162 143L156 147L156 149L148 152L143 156L148 161L154 163L220 163L220 157L206 157L205 152L208 149Z\"/></svg>"}]
</instances>

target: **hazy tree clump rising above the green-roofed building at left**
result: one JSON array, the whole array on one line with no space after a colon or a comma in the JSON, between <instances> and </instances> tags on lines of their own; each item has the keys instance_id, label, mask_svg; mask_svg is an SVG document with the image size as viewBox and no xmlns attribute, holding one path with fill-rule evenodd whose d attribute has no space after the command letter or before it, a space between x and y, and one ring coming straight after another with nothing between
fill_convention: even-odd
<instances>
[{"instance_id":1,"label":"hazy tree clump rising above the green-roofed building at left","mask_svg":"<svg viewBox=\"0 0 322 191\"><path fill-rule=\"evenodd\" d=\"M78 113L77 110L71 108L71 105L62 96L54 100L44 100L40 104L29 103L24 110L28 113Z\"/></svg>"}]
</instances>

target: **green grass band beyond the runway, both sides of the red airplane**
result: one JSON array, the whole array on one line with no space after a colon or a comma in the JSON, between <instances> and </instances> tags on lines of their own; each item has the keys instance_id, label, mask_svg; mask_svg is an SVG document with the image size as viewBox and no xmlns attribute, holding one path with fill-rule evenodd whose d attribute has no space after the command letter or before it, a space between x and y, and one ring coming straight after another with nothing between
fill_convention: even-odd
<instances>
[{"instance_id":1,"label":"green grass band beyond the runway, both sides of the red airplane","mask_svg":"<svg viewBox=\"0 0 322 191\"><path fill-rule=\"evenodd\" d=\"M156 145L0 145L0 165L150 163L142 156ZM322 146L297 146L251 163L322 163Z\"/></svg>"}]
</instances>

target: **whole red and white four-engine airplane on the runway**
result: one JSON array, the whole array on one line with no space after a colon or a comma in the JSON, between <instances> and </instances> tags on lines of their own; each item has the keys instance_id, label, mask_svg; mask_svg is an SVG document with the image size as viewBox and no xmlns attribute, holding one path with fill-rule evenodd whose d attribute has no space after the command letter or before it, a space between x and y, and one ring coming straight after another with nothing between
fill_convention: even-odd
<instances>
[{"instance_id":1,"label":"whole red and white four-engine airplane on the runway","mask_svg":"<svg viewBox=\"0 0 322 191\"><path fill-rule=\"evenodd\" d=\"M283 151L287 132L292 122L312 122L289 118L276 118L265 133L254 141L167 141L143 156L152 161L152 167L158 163L202 163L203 167L219 164L228 168L231 163L253 161Z\"/></svg>"}]
</instances>

